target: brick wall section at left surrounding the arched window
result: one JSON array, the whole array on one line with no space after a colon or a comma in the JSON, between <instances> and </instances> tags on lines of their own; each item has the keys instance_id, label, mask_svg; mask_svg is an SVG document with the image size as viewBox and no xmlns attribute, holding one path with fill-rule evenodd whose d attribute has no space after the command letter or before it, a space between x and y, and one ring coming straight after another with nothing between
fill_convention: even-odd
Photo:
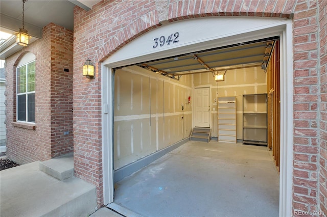
<instances>
[{"instance_id":1,"label":"brick wall section at left surrounding the arched window","mask_svg":"<svg viewBox=\"0 0 327 217\"><path fill-rule=\"evenodd\" d=\"M16 122L16 66L26 52L36 56L35 129ZM7 157L26 164L72 151L73 32L50 23L43 28L42 39L16 52L6 63ZM64 131L70 134L63 135Z\"/></svg>"}]
</instances>

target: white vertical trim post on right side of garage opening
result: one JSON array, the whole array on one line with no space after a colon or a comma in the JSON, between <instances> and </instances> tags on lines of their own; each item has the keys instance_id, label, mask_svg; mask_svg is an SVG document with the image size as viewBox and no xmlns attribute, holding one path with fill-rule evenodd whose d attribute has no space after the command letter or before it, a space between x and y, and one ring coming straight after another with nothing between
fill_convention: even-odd
<instances>
[{"instance_id":1,"label":"white vertical trim post on right side of garage opening","mask_svg":"<svg viewBox=\"0 0 327 217\"><path fill-rule=\"evenodd\" d=\"M293 175L293 23L281 33L281 172L279 216L292 216Z\"/></svg>"}]
</instances>

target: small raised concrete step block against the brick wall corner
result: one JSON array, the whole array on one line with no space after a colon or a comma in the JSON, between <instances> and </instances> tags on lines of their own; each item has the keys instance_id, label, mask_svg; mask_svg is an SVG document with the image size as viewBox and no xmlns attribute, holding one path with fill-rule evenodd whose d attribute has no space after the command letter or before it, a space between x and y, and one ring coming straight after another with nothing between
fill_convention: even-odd
<instances>
[{"instance_id":1,"label":"small raised concrete step block against the brick wall corner","mask_svg":"<svg viewBox=\"0 0 327 217\"><path fill-rule=\"evenodd\" d=\"M63 181L74 176L73 152L40 162L40 171Z\"/></svg>"}]
</instances>

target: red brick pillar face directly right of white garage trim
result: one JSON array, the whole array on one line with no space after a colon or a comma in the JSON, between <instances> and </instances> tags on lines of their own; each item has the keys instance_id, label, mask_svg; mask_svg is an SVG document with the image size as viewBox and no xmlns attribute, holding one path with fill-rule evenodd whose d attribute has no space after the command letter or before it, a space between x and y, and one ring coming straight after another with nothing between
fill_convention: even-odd
<instances>
[{"instance_id":1,"label":"red brick pillar face directly right of white garage trim","mask_svg":"<svg viewBox=\"0 0 327 217\"><path fill-rule=\"evenodd\" d=\"M317 211L318 203L318 22L317 2L294 10L293 210ZM301 92L298 90L301 89Z\"/></svg>"}]
</instances>

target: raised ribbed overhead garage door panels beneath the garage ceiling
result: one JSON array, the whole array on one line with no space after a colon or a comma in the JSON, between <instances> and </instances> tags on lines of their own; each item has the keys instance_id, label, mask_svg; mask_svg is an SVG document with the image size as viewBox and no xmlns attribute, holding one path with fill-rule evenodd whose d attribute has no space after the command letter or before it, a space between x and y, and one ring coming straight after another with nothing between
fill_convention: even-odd
<instances>
[{"instance_id":1,"label":"raised ribbed overhead garage door panels beneath the garage ceiling","mask_svg":"<svg viewBox=\"0 0 327 217\"><path fill-rule=\"evenodd\" d=\"M277 37L187 53L178 57L137 64L158 74L179 79L181 75L262 66L268 63ZM263 66L264 64L264 66Z\"/></svg>"}]
</instances>

